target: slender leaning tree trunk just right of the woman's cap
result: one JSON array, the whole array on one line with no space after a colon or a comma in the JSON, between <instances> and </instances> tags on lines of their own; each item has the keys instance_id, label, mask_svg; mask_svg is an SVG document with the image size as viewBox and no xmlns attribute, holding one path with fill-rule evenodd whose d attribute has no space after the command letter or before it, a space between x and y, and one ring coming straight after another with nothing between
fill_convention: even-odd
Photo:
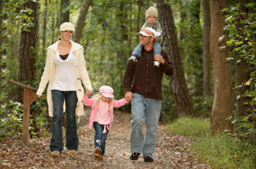
<instances>
[{"instance_id":1,"label":"slender leaning tree trunk just right of the woman's cap","mask_svg":"<svg viewBox=\"0 0 256 169\"><path fill-rule=\"evenodd\" d=\"M92 0L84 0L82 7L80 8L79 17L76 21L76 31L73 37L73 41L76 43L79 43L82 37L83 27L86 21L86 15L89 10L89 6L91 4L92 4Z\"/></svg>"}]
</instances>

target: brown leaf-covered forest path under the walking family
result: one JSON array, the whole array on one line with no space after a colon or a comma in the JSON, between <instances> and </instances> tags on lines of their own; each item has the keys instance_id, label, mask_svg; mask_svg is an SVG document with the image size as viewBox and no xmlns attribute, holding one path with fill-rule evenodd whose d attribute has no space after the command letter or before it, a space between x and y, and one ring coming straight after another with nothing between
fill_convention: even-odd
<instances>
[{"instance_id":1,"label":"brown leaf-covered forest path under the walking family","mask_svg":"<svg viewBox=\"0 0 256 169\"><path fill-rule=\"evenodd\" d=\"M81 118L79 123L76 159L68 156L66 148L60 158L50 158L50 138L31 139L27 145L21 140L12 140L1 143L0 168L211 168L191 154L190 138L167 134L164 125L158 126L154 161L146 163L142 157L138 161L131 161L131 113L120 111L115 111L112 129L106 140L104 159L96 161L93 155L95 131L88 128L89 113L90 110L86 110L87 116Z\"/></svg>"}]
</instances>

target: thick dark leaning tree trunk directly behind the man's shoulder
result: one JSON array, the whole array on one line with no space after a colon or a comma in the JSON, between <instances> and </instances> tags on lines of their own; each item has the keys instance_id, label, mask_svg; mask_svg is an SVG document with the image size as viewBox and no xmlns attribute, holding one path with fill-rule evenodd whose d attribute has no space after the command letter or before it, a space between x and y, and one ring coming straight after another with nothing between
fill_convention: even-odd
<instances>
[{"instance_id":1,"label":"thick dark leaning tree trunk directly behind the man's shoulder","mask_svg":"<svg viewBox=\"0 0 256 169\"><path fill-rule=\"evenodd\" d=\"M183 72L183 65L180 56L180 49L177 40L177 31L174 25L173 11L170 5L164 4L164 0L157 0L160 24L163 29L164 45L173 65L173 76L171 85L175 104L177 106L178 116L193 115L193 107L190 100L190 94L186 87L186 81Z\"/></svg>"}]
</instances>

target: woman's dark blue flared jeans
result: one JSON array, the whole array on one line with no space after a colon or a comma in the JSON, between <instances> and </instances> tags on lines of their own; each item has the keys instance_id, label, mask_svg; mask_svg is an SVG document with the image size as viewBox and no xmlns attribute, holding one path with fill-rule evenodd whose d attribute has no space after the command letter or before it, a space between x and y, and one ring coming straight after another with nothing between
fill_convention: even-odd
<instances>
[{"instance_id":1,"label":"woman's dark blue flared jeans","mask_svg":"<svg viewBox=\"0 0 256 169\"><path fill-rule=\"evenodd\" d=\"M52 90L53 122L50 151L63 151L63 102L66 103L66 148L77 151L79 141L76 132L76 91Z\"/></svg>"}]
</instances>

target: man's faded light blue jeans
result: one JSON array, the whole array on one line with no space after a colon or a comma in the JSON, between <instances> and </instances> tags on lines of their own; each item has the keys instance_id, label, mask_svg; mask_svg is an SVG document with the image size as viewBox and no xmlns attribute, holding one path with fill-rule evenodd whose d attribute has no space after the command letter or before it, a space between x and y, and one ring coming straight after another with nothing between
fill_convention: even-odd
<instances>
[{"instance_id":1,"label":"man's faded light blue jeans","mask_svg":"<svg viewBox=\"0 0 256 169\"><path fill-rule=\"evenodd\" d=\"M153 158L157 142L157 126L160 118L161 100L133 94L131 101L131 152L141 152ZM143 125L146 125L144 138Z\"/></svg>"}]
</instances>

